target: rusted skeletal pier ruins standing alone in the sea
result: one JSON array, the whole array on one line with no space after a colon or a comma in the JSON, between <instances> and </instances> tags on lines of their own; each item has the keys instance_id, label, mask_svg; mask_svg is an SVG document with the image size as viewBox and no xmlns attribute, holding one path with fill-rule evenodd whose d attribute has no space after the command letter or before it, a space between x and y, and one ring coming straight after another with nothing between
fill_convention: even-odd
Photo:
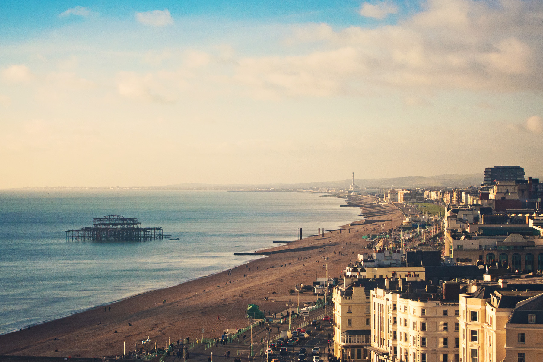
<instances>
[{"instance_id":1,"label":"rusted skeletal pier ruins standing alone in the sea","mask_svg":"<svg viewBox=\"0 0 543 362\"><path fill-rule=\"evenodd\" d=\"M121 215L93 218L92 227L66 230L67 242L147 242L163 237L162 227L141 227L137 218Z\"/></svg>"}]
</instances>

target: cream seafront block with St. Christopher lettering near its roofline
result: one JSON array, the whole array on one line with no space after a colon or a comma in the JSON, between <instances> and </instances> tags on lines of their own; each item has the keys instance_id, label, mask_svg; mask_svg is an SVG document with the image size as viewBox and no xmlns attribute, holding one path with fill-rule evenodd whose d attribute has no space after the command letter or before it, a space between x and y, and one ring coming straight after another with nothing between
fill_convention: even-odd
<instances>
[{"instance_id":1,"label":"cream seafront block with St. Christopher lettering near its roofline","mask_svg":"<svg viewBox=\"0 0 543 362\"><path fill-rule=\"evenodd\" d=\"M459 284L449 285L446 298L426 289L372 291L371 361L459 362Z\"/></svg>"}]
</instances>

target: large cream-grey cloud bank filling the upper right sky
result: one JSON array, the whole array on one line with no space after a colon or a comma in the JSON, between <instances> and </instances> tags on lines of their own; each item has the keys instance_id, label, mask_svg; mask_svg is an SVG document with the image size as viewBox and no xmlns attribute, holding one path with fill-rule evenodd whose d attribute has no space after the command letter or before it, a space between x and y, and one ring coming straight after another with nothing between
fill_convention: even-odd
<instances>
[{"instance_id":1,"label":"large cream-grey cloud bank filling the upper right sky","mask_svg":"<svg viewBox=\"0 0 543 362\"><path fill-rule=\"evenodd\" d=\"M395 26L334 31L310 24L289 46L297 56L246 57L235 80L286 95L361 94L372 86L413 90L543 90L543 3L434 0ZM258 93L254 93L258 94Z\"/></svg>"}]
</instances>

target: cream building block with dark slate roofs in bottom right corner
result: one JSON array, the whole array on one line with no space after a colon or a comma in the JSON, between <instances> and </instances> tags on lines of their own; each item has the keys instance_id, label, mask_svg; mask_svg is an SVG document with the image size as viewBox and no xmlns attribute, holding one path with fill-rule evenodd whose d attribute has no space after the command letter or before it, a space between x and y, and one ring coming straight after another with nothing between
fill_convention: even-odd
<instances>
[{"instance_id":1,"label":"cream building block with dark slate roofs in bottom right corner","mask_svg":"<svg viewBox=\"0 0 543 362\"><path fill-rule=\"evenodd\" d=\"M460 359L543 360L535 358L543 353L542 282L540 277L501 279L475 287L472 293L460 294ZM528 315L540 316L542 320L534 322Z\"/></svg>"}]
</instances>

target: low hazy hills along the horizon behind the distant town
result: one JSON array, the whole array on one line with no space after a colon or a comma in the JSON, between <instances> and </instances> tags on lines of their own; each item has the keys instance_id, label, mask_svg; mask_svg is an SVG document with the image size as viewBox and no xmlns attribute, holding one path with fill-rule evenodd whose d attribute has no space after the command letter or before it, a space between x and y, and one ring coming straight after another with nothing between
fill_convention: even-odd
<instances>
[{"instance_id":1,"label":"low hazy hills along the horizon behind the distant town","mask_svg":"<svg viewBox=\"0 0 543 362\"><path fill-rule=\"evenodd\" d=\"M436 175L436 176L411 176L411 177L392 177L389 179L355 179L359 187L394 187L394 188L415 188L415 187L466 187L481 185L483 174L466 175ZM258 185L249 184L230 184L220 185L211 183L178 183L176 185L166 185L165 188L218 188L218 189L239 189L239 188L345 188L351 185L351 180L340 181L315 181L302 183L263 183Z\"/></svg>"}]
</instances>

